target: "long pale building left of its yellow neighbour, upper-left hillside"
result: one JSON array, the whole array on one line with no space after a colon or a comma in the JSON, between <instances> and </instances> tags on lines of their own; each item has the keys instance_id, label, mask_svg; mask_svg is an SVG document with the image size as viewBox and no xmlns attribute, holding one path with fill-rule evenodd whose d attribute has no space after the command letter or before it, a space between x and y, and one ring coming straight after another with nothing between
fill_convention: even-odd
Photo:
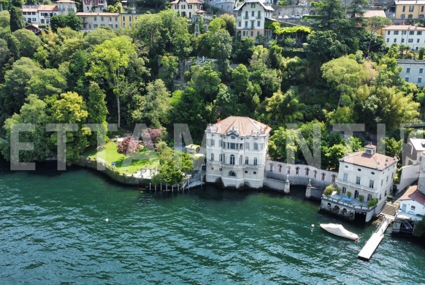
<instances>
[{"instance_id":1,"label":"long pale building left of its yellow neighbour, upper-left hillside","mask_svg":"<svg viewBox=\"0 0 425 285\"><path fill-rule=\"evenodd\" d=\"M121 26L119 13L109 12L78 12L81 18L81 31L92 31L101 26L109 26L113 29Z\"/></svg>"}]
</instances>

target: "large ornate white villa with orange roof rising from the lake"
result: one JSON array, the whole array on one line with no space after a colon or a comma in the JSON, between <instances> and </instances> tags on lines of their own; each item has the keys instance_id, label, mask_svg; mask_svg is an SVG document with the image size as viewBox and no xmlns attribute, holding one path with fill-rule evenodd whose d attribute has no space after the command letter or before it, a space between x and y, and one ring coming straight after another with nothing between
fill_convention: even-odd
<instances>
[{"instance_id":1,"label":"large ornate white villa with orange roof rising from the lake","mask_svg":"<svg viewBox=\"0 0 425 285\"><path fill-rule=\"evenodd\" d=\"M205 130L205 181L261 188L270 127L249 117L218 119Z\"/></svg>"}]
</instances>

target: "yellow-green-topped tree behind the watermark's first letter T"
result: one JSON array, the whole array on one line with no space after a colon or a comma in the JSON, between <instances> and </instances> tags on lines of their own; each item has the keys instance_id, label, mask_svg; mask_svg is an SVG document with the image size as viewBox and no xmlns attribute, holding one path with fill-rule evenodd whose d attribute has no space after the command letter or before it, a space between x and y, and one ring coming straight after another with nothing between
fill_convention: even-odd
<instances>
[{"instance_id":1,"label":"yellow-green-topped tree behind the watermark's first letter T","mask_svg":"<svg viewBox=\"0 0 425 285\"><path fill-rule=\"evenodd\" d=\"M84 125L87 118L87 110L83 98L75 92L61 93L58 100L50 107L51 122L53 123L76 123L76 132L66 132L66 160L67 163L79 161L80 154L88 144L87 136L91 134L90 129ZM50 136L52 143L58 143L57 133Z\"/></svg>"}]
</instances>

